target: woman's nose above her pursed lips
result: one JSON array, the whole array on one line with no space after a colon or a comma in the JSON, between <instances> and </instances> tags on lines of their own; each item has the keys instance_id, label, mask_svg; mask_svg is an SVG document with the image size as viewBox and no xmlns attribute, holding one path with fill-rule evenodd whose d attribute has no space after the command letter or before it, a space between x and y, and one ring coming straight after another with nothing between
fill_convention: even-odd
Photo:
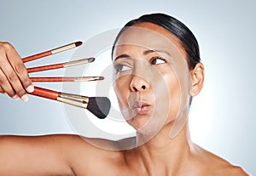
<instances>
[{"instance_id":1,"label":"woman's nose above her pursed lips","mask_svg":"<svg viewBox=\"0 0 256 176\"><path fill-rule=\"evenodd\" d=\"M130 88L134 92L146 91L149 88L149 84L143 77L134 75L131 79Z\"/></svg>"}]
</instances>

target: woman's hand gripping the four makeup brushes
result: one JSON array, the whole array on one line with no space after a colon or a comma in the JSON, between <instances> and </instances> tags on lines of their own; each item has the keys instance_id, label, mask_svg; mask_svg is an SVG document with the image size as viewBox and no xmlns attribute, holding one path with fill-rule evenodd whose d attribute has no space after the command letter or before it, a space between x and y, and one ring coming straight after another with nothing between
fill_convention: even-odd
<instances>
[{"instance_id":1,"label":"woman's hand gripping the four makeup brushes","mask_svg":"<svg viewBox=\"0 0 256 176\"><path fill-rule=\"evenodd\" d=\"M13 99L28 100L34 87L20 55L9 43L0 43L0 93Z\"/></svg>"}]
</instances>

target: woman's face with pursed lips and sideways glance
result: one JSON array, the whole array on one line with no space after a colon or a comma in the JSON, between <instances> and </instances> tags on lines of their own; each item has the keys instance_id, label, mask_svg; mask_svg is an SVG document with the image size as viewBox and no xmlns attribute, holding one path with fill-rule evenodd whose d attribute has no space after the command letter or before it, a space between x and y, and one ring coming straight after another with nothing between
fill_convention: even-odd
<instances>
[{"instance_id":1,"label":"woman's face with pursed lips and sideways glance","mask_svg":"<svg viewBox=\"0 0 256 176\"><path fill-rule=\"evenodd\" d=\"M126 29L113 50L114 90L125 120L158 131L189 108L189 69L177 37L152 23Z\"/></svg>"}]
</instances>

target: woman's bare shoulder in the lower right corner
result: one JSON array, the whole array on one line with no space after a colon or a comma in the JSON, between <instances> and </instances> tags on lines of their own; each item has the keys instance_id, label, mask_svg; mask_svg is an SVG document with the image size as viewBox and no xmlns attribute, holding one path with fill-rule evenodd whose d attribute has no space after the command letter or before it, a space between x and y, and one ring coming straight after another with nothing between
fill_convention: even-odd
<instances>
[{"instance_id":1,"label":"woman's bare shoulder in the lower right corner","mask_svg":"<svg viewBox=\"0 0 256 176\"><path fill-rule=\"evenodd\" d=\"M241 167L232 165L230 162L224 160L224 158L210 151L204 150L199 146L196 146L196 150L199 153L199 158L201 158L203 165L203 175L207 173L207 175L212 176L249 176Z\"/></svg>"}]
</instances>

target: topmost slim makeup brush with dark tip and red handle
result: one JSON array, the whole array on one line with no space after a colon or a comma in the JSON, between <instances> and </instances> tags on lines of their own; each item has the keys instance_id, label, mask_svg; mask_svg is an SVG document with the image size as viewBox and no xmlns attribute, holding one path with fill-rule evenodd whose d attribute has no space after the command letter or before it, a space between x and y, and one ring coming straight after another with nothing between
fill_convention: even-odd
<instances>
[{"instance_id":1,"label":"topmost slim makeup brush with dark tip and red handle","mask_svg":"<svg viewBox=\"0 0 256 176\"><path fill-rule=\"evenodd\" d=\"M32 60L38 60L39 58L44 58L44 57L49 56L51 54L57 54L57 53L60 53L62 51L66 51L66 50L71 49L71 48L79 47L81 44L83 44L83 43L82 42L70 43L70 44L64 45L64 46L59 47L59 48L54 48L54 49L51 49L49 51L44 51L43 53L40 53L40 54L34 54L32 56L28 56L26 58L23 58L22 61L23 61L23 63L25 63L25 62L29 62L29 61L32 61Z\"/></svg>"}]
</instances>

